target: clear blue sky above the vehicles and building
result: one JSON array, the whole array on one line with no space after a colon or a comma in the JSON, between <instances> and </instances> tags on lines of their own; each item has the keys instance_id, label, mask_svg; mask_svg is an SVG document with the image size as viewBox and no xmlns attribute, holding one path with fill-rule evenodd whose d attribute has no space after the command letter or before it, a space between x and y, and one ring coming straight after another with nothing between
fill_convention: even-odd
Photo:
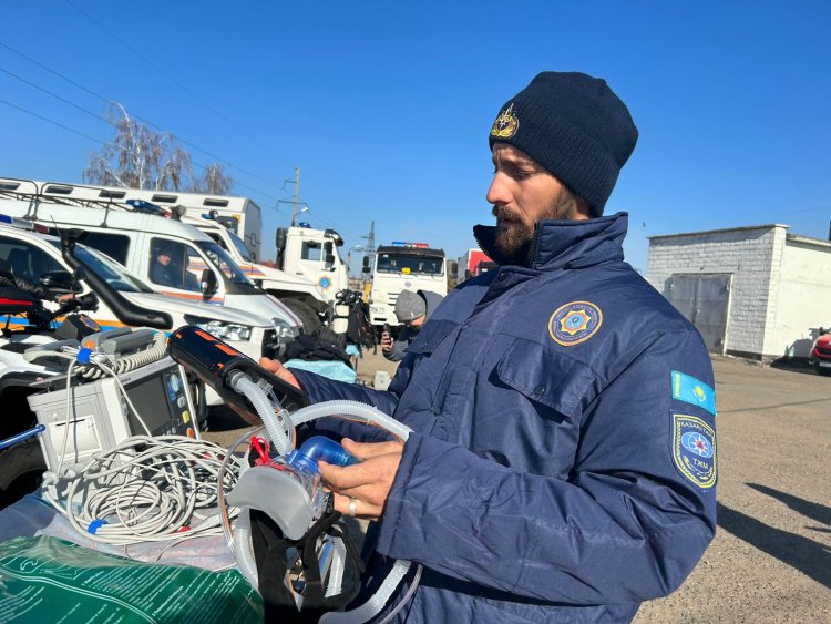
<instances>
[{"instance_id":1,"label":"clear blue sky above the vehicles and building","mask_svg":"<svg viewBox=\"0 0 831 624\"><path fill-rule=\"evenodd\" d=\"M629 212L627 259L645 272L653 235L784 223L828 237L830 31L831 3L799 0L8 2L0 100L18 108L0 102L0 175L81 182L113 132L75 106L105 115L103 96L197 146L197 164L230 163L234 194L264 209L267 256L300 167L304 217L346 248L375 221L377 244L458 257L493 221L501 104L540 71L584 71L640 132L606 213Z\"/></svg>"}]
</instances>

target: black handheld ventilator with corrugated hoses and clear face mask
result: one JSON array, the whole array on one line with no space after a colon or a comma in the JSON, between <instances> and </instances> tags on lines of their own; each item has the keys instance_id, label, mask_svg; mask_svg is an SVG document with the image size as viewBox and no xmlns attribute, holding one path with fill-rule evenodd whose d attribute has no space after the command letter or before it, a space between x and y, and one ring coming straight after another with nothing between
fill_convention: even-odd
<instances>
[{"instance_id":1,"label":"black handheld ventilator with corrugated hoses and clear face mask","mask_svg":"<svg viewBox=\"0 0 831 624\"><path fill-rule=\"evenodd\" d=\"M312 437L299 449L296 448L295 428L318 418L335 417L380 427L400 440L407 439L410 429L376 408L357 401L327 401L310 406L301 390L197 327L185 326L175 330L170 337L168 354L216 390L238 412L250 420L260 419L265 424L270 444L263 443L266 441L256 434L252 438L249 460L243 462L236 484L219 501L220 507L227 502L240 510L233 531L228 514L223 513L223 516L226 534L233 543L243 574L264 595L269 584L284 583L288 590L286 595L301 611L309 583L322 583L326 577L322 604L337 604L327 603L327 599L341 593L347 548L351 545L347 545L345 532L321 529L332 513L336 521L340 516L331 510L331 497L324 489L317 461L322 459L349 466L358 460L327 438ZM250 433L246 437L250 437ZM244 440L240 438L236 446ZM232 457L234 447L230 451L228 457ZM281 538L293 544L286 554L291 560L278 566L285 571L283 579L265 579L257 566L258 557L255 556L252 541L253 518L263 514L274 523ZM301 561L309 554L316 561ZM396 562L369 601L352 611L329 611L320 617L320 622L357 624L371 620L381 612L409 567L407 561ZM408 596L411 593L408 592ZM347 602L343 601L340 606ZM406 602L400 601L394 611Z\"/></svg>"}]
</instances>

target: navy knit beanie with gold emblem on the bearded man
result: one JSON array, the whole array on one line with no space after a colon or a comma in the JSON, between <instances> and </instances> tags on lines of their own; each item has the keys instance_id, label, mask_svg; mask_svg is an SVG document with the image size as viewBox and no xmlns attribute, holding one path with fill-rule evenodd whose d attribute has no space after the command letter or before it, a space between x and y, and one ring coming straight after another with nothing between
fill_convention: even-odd
<instances>
[{"instance_id":1,"label":"navy knit beanie with gold emblem on the bearded man","mask_svg":"<svg viewBox=\"0 0 831 624\"><path fill-rule=\"evenodd\" d=\"M490 145L525 152L601 216L638 131L605 80L543 72L502 106Z\"/></svg>"}]
</instances>

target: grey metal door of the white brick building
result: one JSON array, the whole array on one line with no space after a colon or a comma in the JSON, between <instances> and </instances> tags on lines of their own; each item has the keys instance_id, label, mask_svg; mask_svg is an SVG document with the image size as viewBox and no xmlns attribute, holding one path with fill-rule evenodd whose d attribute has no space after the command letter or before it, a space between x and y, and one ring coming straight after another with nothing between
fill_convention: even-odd
<instances>
[{"instance_id":1,"label":"grey metal door of the white brick building","mask_svg":"<svg viewBox=\"0 0 831 624\"><path fill-rule=\"evenodd\" d=\"M701 334L707 350L725 352L730 274L673 275L669 301Z\"/></svg>"}]
</instances>

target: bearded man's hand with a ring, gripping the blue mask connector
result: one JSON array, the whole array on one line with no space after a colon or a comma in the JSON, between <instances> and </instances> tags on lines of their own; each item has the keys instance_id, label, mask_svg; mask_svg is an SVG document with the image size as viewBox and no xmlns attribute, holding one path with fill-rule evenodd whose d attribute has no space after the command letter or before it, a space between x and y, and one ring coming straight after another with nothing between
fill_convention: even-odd
<instances>
[{"instance_id":1,"label":"bearded man's hand with a ring, gripping the blue mask connector","mask_svg":"<svg viewBox=\"0 0 831 624\"><path fill-rule=\"evenodd\" d=\"M356 515L378 520L383 514L404 446L401 442L361 444L349 438L343 438L341 443L363 461L347 467L318 462L320 475L335 494L335 509L349 515L349 499L355 498Z\"/></svg>"}]
</instances>

